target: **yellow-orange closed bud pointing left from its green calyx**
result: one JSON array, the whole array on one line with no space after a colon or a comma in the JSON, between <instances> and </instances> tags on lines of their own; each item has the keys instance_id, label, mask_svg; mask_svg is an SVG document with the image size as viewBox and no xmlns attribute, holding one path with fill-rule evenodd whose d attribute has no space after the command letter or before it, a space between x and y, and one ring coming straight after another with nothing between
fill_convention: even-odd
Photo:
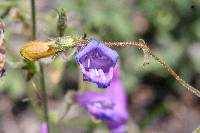
<instances>
[{"instance_id":1,"label":"yellow-orange closed bud pointing left from its green calyx","mask_svg":"<svg viewBox=\"0 0 200 133\"><path fill-rule=\"evenodd\" d=\"M27 60L36 61L56 54L56 49L50 47L54 43L55 41L32 41L20 49L20 54Z\"/></svg>"}]
</instances>

